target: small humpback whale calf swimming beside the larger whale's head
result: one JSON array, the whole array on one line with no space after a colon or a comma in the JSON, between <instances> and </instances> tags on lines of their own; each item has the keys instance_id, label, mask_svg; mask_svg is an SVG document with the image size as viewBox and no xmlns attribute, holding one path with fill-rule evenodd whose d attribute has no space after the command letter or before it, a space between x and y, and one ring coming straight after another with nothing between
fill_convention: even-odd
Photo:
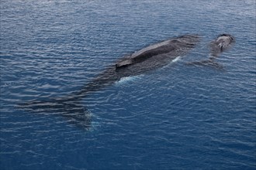
<instances>
[{"instance_id":1,"label":"small humpback whale calf swimming beside the larger whale's head","mask_svg":"<svg viewBox=\"0 0 256 170\"><path fill-rule=\"evenodd\" d=\"M221 34L209 44L209 59L187 63L187 65L213 66L218 69L223 69L223 66L220 63L216 63L215 59L219 57L221 53L230 49L234 42L234 36L231 36L230 34Z\"/></svg>"}]
</instances>

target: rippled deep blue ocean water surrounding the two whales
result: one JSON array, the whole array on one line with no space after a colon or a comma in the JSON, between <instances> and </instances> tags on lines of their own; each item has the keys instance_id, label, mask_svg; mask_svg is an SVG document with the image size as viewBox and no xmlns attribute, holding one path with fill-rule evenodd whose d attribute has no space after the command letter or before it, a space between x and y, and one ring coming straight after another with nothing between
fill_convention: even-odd
<instances>
[{"instance_id":1,"label":"rippled deep blue ocean water surrounding the two whales","mask_svg":"<svg viewBox=\"0 0 256 170\"><path fill-rule=\"evenodd\" d=\"M256 169L254 0L0 2L0 169ZM236 39L216 61L222 33ZM17 107L67 96L154 42L199 34L174 63L83 98L92 127Z\"/></svg>"}]
</instances>

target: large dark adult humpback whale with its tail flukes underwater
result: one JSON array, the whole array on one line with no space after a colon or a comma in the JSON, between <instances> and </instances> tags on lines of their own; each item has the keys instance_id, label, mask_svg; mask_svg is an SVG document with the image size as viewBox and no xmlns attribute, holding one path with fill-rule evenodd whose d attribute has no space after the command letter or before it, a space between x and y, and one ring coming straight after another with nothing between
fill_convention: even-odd
<instances>
[{"instance_id":1,"label":"large dark adult humpback whale with its tail flukes underwater","mask_svg":"<svg viewBox=\"0 0 256 170\"><path fill-rule=\"evenodd\" d=\"M66 97L30 100L26 104L20 104L20 106L29 108L33 113L47 112L48 114L67 117L71 124L88 129L91 127L92 116L87 108L81 104L81 100L87 97L89 93L103 90L123 77L137 76L166 66L178 56L189 53L189 50L193 49L198 42L198 35L178 36L158 42L119 59L91 82L85 84L81 90L70 93Z\"/></svg>"}]
</instances>

